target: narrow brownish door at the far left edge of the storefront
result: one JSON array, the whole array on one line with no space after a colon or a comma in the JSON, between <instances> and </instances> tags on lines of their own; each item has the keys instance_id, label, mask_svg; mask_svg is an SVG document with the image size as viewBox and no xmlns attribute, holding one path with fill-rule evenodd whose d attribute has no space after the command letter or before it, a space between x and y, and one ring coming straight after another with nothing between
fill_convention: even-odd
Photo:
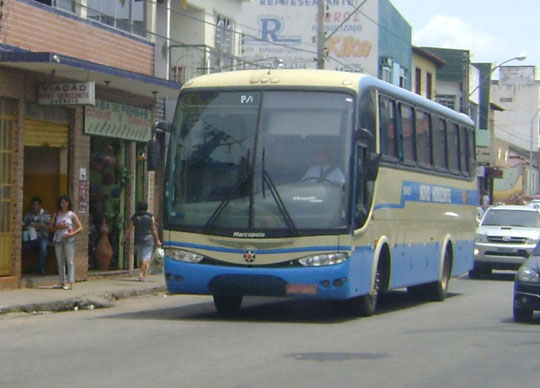
<instances>
[{"instance_id":1,"label":"narrow brownish door at the far left edge of the storefront","mask_svg":"<svg viewBox=\"0 0 540 388\"><path fill-rule=\"evenodd\" d=\"M0 99L0 276L11 274L13 191L13 102Z\"/></svg>"}]
</instances>

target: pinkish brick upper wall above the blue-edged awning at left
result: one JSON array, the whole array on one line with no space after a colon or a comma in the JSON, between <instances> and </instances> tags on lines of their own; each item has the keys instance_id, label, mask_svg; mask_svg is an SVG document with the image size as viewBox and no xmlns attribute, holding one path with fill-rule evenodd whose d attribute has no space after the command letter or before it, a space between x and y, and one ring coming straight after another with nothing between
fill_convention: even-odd
<instances>
[{"instance_id":1,"label":"pinkish brick upper wall above the blue-edged awning at left","mask_svg":"<svg viewBox=\"0 0 540 388\"><path fill-rule=\"evenodd\" d=\"M0 41L153 75L153 44L30 0L4 2ZM66 39L69 37L69 39Z\"/></svg>"}]
</instances>

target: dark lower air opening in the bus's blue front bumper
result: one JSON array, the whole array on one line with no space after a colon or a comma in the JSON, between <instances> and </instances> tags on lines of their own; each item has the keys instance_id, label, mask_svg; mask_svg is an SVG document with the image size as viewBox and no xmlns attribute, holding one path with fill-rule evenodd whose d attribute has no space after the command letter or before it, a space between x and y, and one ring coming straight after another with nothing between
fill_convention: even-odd
<instances>
[{"instance_id":1,"label":"dark lower air opening in the bus's blue front bumper","mask_svg":"<svg viewBox=\"0 0 540 388\"><path fill-rule=\"evenodd\" d=\"M219 275L208 285L214 295L285 296L287 282L276 276Z\"/></svg>"}]
</instances>

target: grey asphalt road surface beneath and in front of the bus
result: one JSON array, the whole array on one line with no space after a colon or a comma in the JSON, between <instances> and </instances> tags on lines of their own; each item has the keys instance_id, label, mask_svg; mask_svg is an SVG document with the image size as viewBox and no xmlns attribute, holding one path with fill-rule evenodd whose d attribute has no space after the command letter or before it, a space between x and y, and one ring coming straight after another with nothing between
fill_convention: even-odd
<instances>
[{"instance_id":1,"label":"grey asphalt road surface beneath and in front of the bus","mask_svg":"<svg viewBox=\"0 0 540 388\"><path fill-rule=\"evenodd\" d=\"M444 302L393 292L369 318L326 303L152 296L0 317L2 387L533 387L540 316L512 320L512 275L452 279Z\"/></svg>"}]
</instances>

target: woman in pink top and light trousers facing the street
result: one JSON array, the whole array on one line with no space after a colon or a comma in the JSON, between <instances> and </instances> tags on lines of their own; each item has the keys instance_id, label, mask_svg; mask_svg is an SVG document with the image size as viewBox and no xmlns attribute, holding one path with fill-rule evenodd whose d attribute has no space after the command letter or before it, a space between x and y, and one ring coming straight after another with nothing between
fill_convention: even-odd
<instances>
[{"instance_id":1,"label":"woman in pink top and light trousers facing the street","mask_svg":"<svg viewBox=\"0 0 540 388\"><path fill-rule=\"evenodd\" d=\"M54 250L58 263L58 276L64 290L71 290L75 283L75 235L83 231L81 221L72 210L71 199L62 195L58 199L57 212L49 225L54 232ZM66 281L67 267L67 281Z\"/></svg>"}]
</instances>

